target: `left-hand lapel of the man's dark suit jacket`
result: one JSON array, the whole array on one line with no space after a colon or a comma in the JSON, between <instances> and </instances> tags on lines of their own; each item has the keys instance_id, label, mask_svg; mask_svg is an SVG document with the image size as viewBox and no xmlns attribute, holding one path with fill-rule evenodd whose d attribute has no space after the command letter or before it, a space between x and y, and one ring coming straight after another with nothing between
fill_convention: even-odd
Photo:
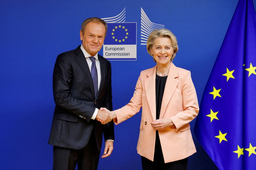
<instances>
[{"instance_id":1,"label":"left-hand lapel of the man's dark suit jacket","mask_svg":"<svg viewBox=\"0 0 256 170\"><path fill-rule=\"evenodd\" d=\"M77 63L80 65L81 69L84 72L84 75L90 85L90 89L92 92L92 95L94 96L95 99L95 94L94 94L94 86L93 86L93 81L92 81L92 75L89 69L89 66L86 62L86 59L84 57L84 53L82 52L82 50L80 49L80 46L78 46L75 50L75 54L76 54L76 61Z\"/></svg>"}]
</instances>

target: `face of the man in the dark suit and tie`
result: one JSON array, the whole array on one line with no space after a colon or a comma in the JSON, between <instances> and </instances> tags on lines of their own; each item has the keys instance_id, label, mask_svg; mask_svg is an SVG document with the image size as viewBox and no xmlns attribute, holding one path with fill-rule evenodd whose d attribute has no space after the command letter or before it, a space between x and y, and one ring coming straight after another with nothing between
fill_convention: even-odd
<instances>
[{"instance_id":1,"label":"face of the man in the dark suit and tie","mask_svg":"<svg viewBox=\"0 0 256 170\"><path fill-rule=\"evenodd\" d=\"M80 31L80 40L85 51L91 56L96 55L104 42L106 29L100 22L89 22L85 28L84 33Z\"/></svg>"}]
</instances>

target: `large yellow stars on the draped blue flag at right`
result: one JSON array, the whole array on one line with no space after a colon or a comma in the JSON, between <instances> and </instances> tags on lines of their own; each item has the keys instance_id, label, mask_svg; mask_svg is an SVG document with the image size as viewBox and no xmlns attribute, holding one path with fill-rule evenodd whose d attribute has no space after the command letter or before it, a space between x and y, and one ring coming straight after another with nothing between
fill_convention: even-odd
<instances>
[{"instance_id":1,"label":"large yellow stars on the draped blue flag at right","mask_svg":"<svg viewBox=\"0 0 256 170\"><path fill-rule=\"evenodd\" d=\"M245 64L243 64L243 66L245 66ZM227 78L227 82L228 82L229 78L235 79L235 77L233 76L233 73L234 73L235 70L229 71L228 68L226 68L226 70L227 70L227 72L224 73L224 74L222 74L222 76L225 76L225 77ZM252 63L250 63L250 67L249 67L249 68L246 68L245 70L249 72L249 73L248 73L248 77L250 77L252 74L256 75L256 71L255 71L255 70L256 70L256 66L253 67ZM217 90L217 89L213 86L213 91L212 91L212 92L209 92L209 94L212 94L212 95L213 95L213 100L214 100L216 97L221 97L221 95L220 95L220 90L221 90L221 89L218 89L218 90ZM211 122L212 122L214 119L219 120L218 117L217 117L217 114L218 114L218 113L219 113L218 111L217 111L217 112L213 112L212 109L210 109L210 114L208 114L208 115L206 115L206 116L210 117L210 118L211 118ZM227 134L228 134L228 133L222 133L222 132L219 130L219 135L218 135L218 136L215 136L215 137L218 138L218 139L219 139L219 143L221 143L223 140L224 140L224 141L228 141L228 140L226 139L226 135L227 135ZM240 157L241 155L244 155L244 150L249 152L248 157L250 157L252 154L255 154L255 155L256 155L256 152L255 152L256 146L252 146L251 143L249 144L249 148L245 148L245 149L244 149L244 148L240 148L240 146L237 145L237 150L236 150L236 151L233 151L234 153L237 153L237 159L239 159L239 157Z\"/></svg>"}]
</instances>

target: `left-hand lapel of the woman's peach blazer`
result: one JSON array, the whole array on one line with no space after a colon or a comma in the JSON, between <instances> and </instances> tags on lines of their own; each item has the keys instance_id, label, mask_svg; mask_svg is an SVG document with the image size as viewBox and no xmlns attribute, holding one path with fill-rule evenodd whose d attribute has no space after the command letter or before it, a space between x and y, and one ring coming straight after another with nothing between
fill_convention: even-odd
<instances>
[{"instance_id":1,"label":"left-hand lapel of the woman's peach blazer","mask_svg":"<svg viewBox=\"0 0 256 170\"><path fill-rule=\"evenodd\" d=\"M146 97L153 120L156 120L156 66L148 71L147 76L144 80Z\"/></svg>"}]
</instances>

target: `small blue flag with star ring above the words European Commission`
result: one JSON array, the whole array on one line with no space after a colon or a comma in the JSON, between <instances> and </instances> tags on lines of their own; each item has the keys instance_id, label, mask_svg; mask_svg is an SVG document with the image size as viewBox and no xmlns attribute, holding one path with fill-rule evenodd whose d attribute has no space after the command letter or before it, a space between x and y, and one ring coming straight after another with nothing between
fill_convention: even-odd
<instances>
[{"instance_id":1,"label":"small blue flag with star ring above the words European Commission","mask_svg":"<svg viewBox=\"0 0 256 170\"><path fill-rule=\"evenodd\" d=\"M136 44L136 22L108 23L108 32L104 40L105 45Z\"/></svg>"}]
</instances>

